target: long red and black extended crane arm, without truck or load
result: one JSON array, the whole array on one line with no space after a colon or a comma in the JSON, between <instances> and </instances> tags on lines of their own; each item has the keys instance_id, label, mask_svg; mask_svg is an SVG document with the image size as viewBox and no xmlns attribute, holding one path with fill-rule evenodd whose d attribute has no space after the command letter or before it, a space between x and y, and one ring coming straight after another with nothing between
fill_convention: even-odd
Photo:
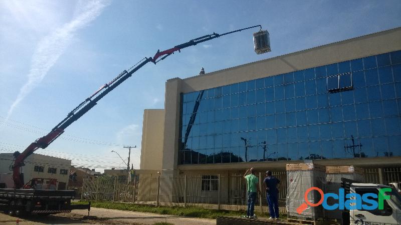
<instances>
[{"instance_id":1,"label":"long red and black extended crane arm, without truck or load","mask_svg":"<svg viewBox=\"0 0 401 225\"><path fill-rule=\"evenodd\" d=\"M260 25L257 25L260 26ZM99 101L102 97L104 97L106 94L108 94L111 90L116 88L118 85L120 85L122 82L124 82L128 77L130 77L134 72L136 72L139 68L144 66L148 62L153 62L156 64L159 60L164 59L168 55L174 53L174 51L179 51L182 48L196 45L200 42L204 42L219 36L223 36L229 33L233 32L238 32L244 29L249 29L253 28L256 26L250 26L247 28L243 29L238 29L234 30L231 32L223 33L223 34L217 34L213 33L210 35L205 35L201 36L195 39L192 39L188 42L185 42L183 44L179 44L174 46L173 48L164 50L164 51L157 51L156 54L152 57L145 57L145 60L141 60L139 64L137 64L135 67L131 67L131 69L124 70L120 74L118 74L117 77L115 77L113 80L110 82L102 85L98 90L96 90L92 95L90 95L88 98L86 98L84 101L82 101L77 107L75 107L70 113L68 113L67 117L64 118L59 124L57 124L47 135L35 140L35 142L32 142L22 153L19 151L14 152L14 165L12 165L13 168L13 179L14 179L14 187L15 188L21 188L24 185L24 176L22 170L22 166L24 165L24 160L31 155L35 150L38 148L46 148L51 142L53 142L57 137L59 137L63 132L64 129L67 128L71 123L79 119L82 115L84 115L87 111L89 111L93 106L97 104L97 101ZM261 26L262 28L262 26ZM164 56L163 56L164 55ZM161 57L162 56L162 57ZM161 57L159 60L157 60L159 57ZM157 61L156 61L157 60Z\"/></svg>"}]
</instances>

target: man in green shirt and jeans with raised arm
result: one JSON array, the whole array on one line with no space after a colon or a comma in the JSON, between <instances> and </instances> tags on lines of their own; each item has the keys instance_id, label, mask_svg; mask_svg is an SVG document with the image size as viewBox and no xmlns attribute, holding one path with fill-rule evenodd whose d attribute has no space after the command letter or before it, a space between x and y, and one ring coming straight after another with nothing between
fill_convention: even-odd
<instances>
[{"instance_id":1,"label":"man in green shirt and jeans with raised arm","mask_svg":"<svg viewBox=\"0 0 401 225\"><path fill-rule=\"evenodd\" d=\"M248 172L251 174L248 174ZM245 174L244 178L247 179L247 189L248 189L248 207L247 207L247 218L255 218L254 216L254 208L255 208L255 201L256 201L256 193L260 193L259 189L259 178L255 175L256 170L252 167L248 169Z\"/></svg>"}]
</instances>

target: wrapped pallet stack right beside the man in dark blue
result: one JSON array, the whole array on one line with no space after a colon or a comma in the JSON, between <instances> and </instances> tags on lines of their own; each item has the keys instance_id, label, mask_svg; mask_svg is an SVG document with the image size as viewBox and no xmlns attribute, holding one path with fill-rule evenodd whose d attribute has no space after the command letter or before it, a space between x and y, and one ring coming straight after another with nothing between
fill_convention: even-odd
<instances>
[{"instance_id":1,"label":"wrapped pallet stack right beside the man in dark blue","mask_svg":"<svg viewBox=\"0 0 401 225\"><path fill-rule=\"evenodd\" d=\"M324 217L322 205L311 207L307 205L306 209L298 214L297 208L305 203L305 192L310 187L318 187L325 192L326 168L314 163L287 164L287 197L286 208L289 218L304 220L316 220ZM309 191L307 195L309 202L317 203L321 195L318 191Z\"/></svg>"}]
</instances>

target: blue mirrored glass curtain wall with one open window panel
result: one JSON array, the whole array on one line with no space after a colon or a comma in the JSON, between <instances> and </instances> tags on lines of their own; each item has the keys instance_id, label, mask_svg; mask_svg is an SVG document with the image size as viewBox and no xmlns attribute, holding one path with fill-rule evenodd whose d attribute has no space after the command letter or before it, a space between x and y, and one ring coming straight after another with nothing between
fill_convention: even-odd
<instances>
[{"instance_id":1,"label":"blue mirrored glass curtain wall with one open window panel","mask_svg":"<svg viewBox=\"0 0 401 225\"><path fill-rule=\"evenodd\" d=\"M194 113L199 93L181 95L180 164L401 155L401 51L207 89Z\"/></svg>"}]
</instances>

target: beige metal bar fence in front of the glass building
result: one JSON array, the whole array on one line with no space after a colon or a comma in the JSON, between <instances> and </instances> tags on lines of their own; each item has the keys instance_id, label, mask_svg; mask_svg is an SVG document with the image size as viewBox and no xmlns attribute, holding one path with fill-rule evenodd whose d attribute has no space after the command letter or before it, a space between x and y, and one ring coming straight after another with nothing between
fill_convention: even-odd
<instances>
[{"instance_id":1,"label":"beige metal bar fence in front of the glass building","mask_svg":"<svg viewBox=\"0 0 401 225\"><path fill-rule=\"evenodd\" d=\"M258 195L255 210L268 212L266 192L262 185L264 174L259 173L261 195ZM286 171L273 172L281 180L279 208L286 212ZM401 168L364 169L365 182L400 182ZM382 180L382 182L380 182ZM210 209L246 210L247 191L243 174L208 174L166 177L140 174L127 183L117 177L84 179L82 198L136 204L197 206Z\"/></svg>"}]
</instances>

